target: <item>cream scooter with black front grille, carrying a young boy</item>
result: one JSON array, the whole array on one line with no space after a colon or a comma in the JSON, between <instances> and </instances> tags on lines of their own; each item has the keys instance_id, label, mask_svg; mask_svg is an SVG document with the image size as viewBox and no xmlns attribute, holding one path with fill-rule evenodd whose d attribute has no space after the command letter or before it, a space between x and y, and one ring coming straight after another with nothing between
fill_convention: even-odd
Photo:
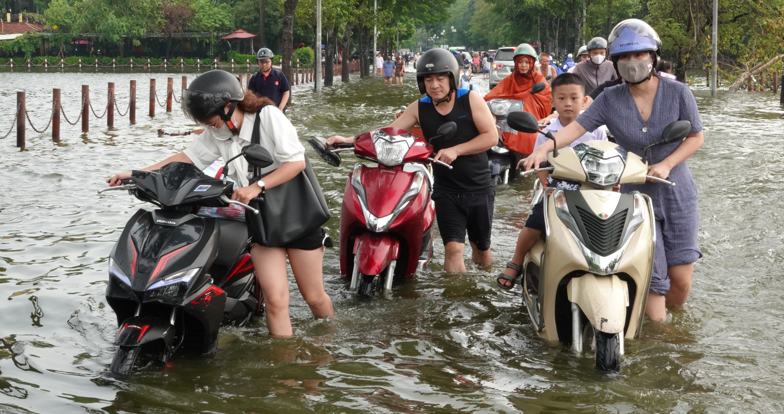
<instances>
[{"instance_id":1,"label":"cream scooter with black front grille, carrying a young boy","mask_svg":"<svg viewBox=\"0 0 784 414\"><path fill-rule=\"evenodd\" d=\"M527 112L507 120L523 133L542 133ZM689 129L688 121L673 122L654 145L683 140ZM675 184L647 176L643 157L609 141L556 150L549 160L552 166L523 174L550 171L581 187L544 190L546 231L525 257L524 303L539 336L571 343L578 354L593 350L597 369L617 372L624 340L641 334L656 234L651 199L612 187L648 179Z\"/></svg>"}]
</instances>

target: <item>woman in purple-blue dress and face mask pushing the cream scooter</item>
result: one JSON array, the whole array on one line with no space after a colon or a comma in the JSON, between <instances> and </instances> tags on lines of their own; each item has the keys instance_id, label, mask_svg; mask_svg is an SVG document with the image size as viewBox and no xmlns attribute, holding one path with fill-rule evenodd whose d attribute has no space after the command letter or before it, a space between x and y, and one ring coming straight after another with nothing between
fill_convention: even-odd
<instances>
[{"instance_id":1,"label":"woman in purple-blue dress and face mask pushing the cream scooter","mask_svg":"<svg viewBox=\"0 0 784 414\"><path fill-rule=\"evenodd\" d=\"M662 136L671 122L691 122L691 131L679 143L651 147L648 175L676 183L623 184L622 192L640 191L653 202L656 230L651 289L645 309L653 321L666 320L665 304L683 306L691 291L694 263L702 257L697 246L699 216L697 188L686 160L702 146L702 121L688 86L655 76L662 42L641 20L623 20L609 38L609 53L615 71L626 83L604 89L576 122L555 134L558 147L607 125L615 141L626 151L643 155L644 147ZM553 151L548 141L524 160L526 170L546 160Z\"/></svg>"}]
</instances>

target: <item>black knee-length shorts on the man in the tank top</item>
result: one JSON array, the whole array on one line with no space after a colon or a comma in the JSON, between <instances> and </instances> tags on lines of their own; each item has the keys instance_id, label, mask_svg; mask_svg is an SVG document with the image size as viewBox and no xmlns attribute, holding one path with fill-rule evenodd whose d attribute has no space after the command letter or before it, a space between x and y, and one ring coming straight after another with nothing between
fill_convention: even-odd
<instances>
[{"instance_id":1,"label":"black knee-length shorts on the man in the tank top","mask_svg":"<svg viewBox=\"0 0 784 414\"><path fill-rule=\"evenodd\" d=\"M452 194L434 192L436 220L441 232L441 241L477 245L479 250L490 249L492 232L492 210L495 204L495 190L485 194Z\"/></svg>"}]
</instances>

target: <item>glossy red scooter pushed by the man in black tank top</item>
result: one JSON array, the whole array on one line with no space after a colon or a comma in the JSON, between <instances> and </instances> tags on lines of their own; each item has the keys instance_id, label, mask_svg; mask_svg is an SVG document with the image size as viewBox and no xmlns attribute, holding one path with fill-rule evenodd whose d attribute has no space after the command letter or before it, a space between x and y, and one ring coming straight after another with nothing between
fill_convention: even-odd
<instances>
[{"instance_id":1,"label":"glossy red scooter pushed by the man in black tank top","mask_svg":"<svg viewBox=\"0 0 784 414\"><path fill-rule=\"evenodd\" d=\"M448 140L456 129L454 122L441 125L430 142ZM377 163L354 165L346 183L340 213L340 274L351 275L350 289L360 296L388 295L394 278L410 278L433 255L435 207L428 168L434 161L433 147L397 128L376 129L358 135L354 143L335 147L316 136L308 142L332 166L340 165L339 153L346 151Z\"/></svg>"}]
</instances>

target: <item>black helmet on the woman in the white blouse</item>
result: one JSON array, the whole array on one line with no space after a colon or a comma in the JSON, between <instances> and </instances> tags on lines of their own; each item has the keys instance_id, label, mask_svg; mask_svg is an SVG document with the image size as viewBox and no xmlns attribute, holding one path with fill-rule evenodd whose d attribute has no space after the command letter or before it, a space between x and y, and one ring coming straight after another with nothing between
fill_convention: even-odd
<instances>
[{"instance_id":1,"label":"black helmet on the woman in the white blouse","mask_svg":"<svg viewBox=\"0 0 784 414\"><path fill-rule=\"evenodd\" d=\"M183 89L183 113L191 121L199 123L219 115L232 133L236 134L236 128L231 123L231 114L234 114L234 108L244 96L242 86L233 74L227 71L209 71L198 75L188 89ZM226 104L231 104L228 114L223 112Z\"/></svg>"}]
</instances>

